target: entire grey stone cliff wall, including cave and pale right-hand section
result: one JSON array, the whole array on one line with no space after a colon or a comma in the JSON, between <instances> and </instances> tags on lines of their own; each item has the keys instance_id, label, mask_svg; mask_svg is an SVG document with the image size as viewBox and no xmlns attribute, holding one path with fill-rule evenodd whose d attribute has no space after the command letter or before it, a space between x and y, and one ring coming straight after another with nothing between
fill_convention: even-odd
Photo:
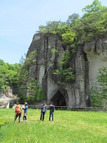
<instances>
[{"instance_id":1,"label":"entire grey stone cliff wall, including cave and pale right-hand section","mask_svg":"<svg viewBox=\"0 0 107 143\"><path fill-rule=\"evenodd\" d=\"M56 106L80 108L90 106L89 89L97 81L99 68L107 66L107 39L77 47L69 63L75 72L75 81L61 85L53 72L61 68L64 48L56 35L35 34L28 54L37 51L36 64L30 67L29 76L44 88L47 103L53 101Z\"/></svg>"}]
</instances>

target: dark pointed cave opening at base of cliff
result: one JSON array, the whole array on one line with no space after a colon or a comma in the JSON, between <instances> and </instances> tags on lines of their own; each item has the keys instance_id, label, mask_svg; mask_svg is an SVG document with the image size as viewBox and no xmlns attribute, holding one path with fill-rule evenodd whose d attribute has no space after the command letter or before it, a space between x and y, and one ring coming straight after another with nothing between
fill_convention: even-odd
<instances>
[{"instance_id":1,"label":"dark pointed cave opening at base of cliff","mask_svg":"<svg viewBox=\"0 0 107 143\"><path fill-rule=\"evenodd\" d=\"M55 106L66 106L65 97L59 90L53 96L51 102L53 102Z\"/></svg>"}]
</instances>

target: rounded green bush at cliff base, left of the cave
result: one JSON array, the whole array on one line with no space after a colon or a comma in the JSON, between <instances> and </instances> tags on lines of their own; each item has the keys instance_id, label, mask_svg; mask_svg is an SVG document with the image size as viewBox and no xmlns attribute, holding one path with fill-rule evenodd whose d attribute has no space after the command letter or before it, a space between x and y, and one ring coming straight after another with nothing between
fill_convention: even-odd
<instances>
[{"instance_id":1,"label":"rounded green bush at cliff base, left of the cave","mask_svg":"<svg viewBox=\"0 0 107 143\"><path fill-rule=\"evenodd\" d=\"M37 80L34 80L32 78L29 78L26 84L23 83L21 85L19 96L21 103L27 101L28 103L33 104L35 102L46 99L45 91L41 87L39 87Z\"/></svg>"}]
</instances>

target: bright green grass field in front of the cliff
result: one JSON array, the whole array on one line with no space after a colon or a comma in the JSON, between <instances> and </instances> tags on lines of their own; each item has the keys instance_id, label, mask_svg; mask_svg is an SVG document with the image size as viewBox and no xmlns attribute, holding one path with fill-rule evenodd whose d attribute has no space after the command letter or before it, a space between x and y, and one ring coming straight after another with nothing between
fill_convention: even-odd
<instances>
[{"instance_id":1,"label":"bright green grass field in front of the cliff","mask_svg":"<svg viewBox=\"0 0 107 143\"><path fill-rule=\"evenodd\" d=\"M0 143L107 143L107 113L56 110L54 122L49 111L39 118L29 109L26 123L14 123L14 110L0 109Z\"/></svg>"}]
</instances>

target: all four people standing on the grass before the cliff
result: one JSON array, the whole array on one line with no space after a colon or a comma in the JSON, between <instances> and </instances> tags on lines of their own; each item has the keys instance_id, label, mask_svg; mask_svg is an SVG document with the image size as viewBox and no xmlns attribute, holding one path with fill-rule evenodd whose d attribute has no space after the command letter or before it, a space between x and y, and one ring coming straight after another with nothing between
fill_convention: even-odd
<instances>
[{"instance_id":1,"label":"all four people standing on the grass before the cliff","mask_svg":"<svg viewBox=\"0 0 107 143\"><path fill-rule=\"evenodd\" d=\"M24 107L21 107L19 105L19 102L16 103L16 107L15 107L15 121L19 117L19 123L20 123L20 118L21 118L21 114L22 114L22 109L24 110L23 122L26 122L27 121L27 111L28 111L28 103L27 102L25 102ZM51 102L51 104L49 106L49 111L50 111L49 112L49 121L51 120L51 116L52 116L52 121L54 119L54 110L55 110L55 106ZM46 111L47 111L47 105L46 105L45 102L43 102L43 104L41 105L40 120L44 121Z\"/></svg>"}]
</instances>

